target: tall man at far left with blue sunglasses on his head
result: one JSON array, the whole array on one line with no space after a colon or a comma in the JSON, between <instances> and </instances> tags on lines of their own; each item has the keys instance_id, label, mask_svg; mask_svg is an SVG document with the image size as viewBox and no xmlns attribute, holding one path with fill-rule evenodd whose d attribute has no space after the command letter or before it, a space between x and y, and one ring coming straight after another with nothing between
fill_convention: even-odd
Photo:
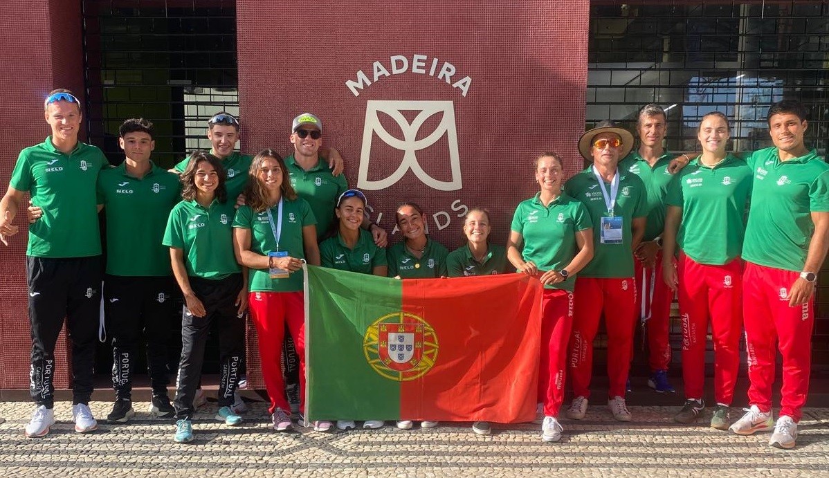
<instances>
[{"instance_id":1,"label":"tall man at far left with blue sunglasses on his head","mask_svg":"<svg viewBox=\"0 0 829 478\"><path fill-rule=\"evenodd\" d=\"M27 282L32 326L32 399L36 403L27 437L43 437L55 423L55 345L64 318L71 338L72 419L75 432L98 422L88 403L92 394L99 323L101 241L95 182L109 167L104 153L78 141L80 101L67 89L52 91L43 103L51 135L20 152L8 190L0 200L0 242L17 234L13 224L24 194L46 215L29 226Z\"/></svg>"}]
</instances>

